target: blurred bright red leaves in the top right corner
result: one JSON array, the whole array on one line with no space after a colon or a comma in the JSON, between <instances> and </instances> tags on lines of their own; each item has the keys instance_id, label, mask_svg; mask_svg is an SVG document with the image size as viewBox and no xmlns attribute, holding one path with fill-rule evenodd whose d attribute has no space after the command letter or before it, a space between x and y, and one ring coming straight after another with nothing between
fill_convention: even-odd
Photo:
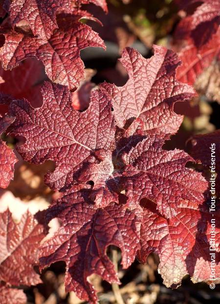
<instances>
[{"instance_id":1,"label":"blurred bright red leaves in the top right corner","mask_svg":"<svg viewBox=\"0 0 220 304\"><path fill-rule=\"evenodd\" d=\"M174 49L182 61L177 78L193 85L213 61L220 60L220 1L176 2L185 15L175 33Z\"/></svg>"}]
</instances>

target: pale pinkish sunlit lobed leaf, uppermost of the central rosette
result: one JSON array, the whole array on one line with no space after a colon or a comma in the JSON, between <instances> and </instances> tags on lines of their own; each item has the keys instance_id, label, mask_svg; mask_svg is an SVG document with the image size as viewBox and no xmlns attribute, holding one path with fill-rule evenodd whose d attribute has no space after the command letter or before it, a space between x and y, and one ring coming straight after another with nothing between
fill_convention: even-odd
<instances>
[{"instance_id":1,"label":"pale pinkish sunlit lobed leaf, uppermost of the central rosette","mask_svg":"<svg viewBox=\"0 0 220 304\"><path fill-rule=\"evenodd\" d=\"M176 54L154 46L154 56L145 59L127 48L121 62L129 74L126 85L101 86L112 98L117 125L124 127L127 120L139 118L148 134L176 133L182 117L173 111L173 105L194 95L191 87L176 80L175 70L180 63Z\"/></svg>"}]
</instances>

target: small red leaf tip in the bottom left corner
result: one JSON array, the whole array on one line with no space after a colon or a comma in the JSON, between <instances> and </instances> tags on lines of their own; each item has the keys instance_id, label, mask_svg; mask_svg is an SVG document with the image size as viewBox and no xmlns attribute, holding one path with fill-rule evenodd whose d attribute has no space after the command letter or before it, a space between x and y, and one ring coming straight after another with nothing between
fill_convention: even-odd
<instances>
[{"instance_id":1,"label":"small red leaf tip in the bottom left corner","mask_svg":"<svg viewBox=\"0 0 220 304\"><path fill-rule=\"evenodd\" d=\"M22 290L9 288L6 286L0 287L1 304L25 304L26 302L27 298Z\"/></svg>"}]
</instances>

